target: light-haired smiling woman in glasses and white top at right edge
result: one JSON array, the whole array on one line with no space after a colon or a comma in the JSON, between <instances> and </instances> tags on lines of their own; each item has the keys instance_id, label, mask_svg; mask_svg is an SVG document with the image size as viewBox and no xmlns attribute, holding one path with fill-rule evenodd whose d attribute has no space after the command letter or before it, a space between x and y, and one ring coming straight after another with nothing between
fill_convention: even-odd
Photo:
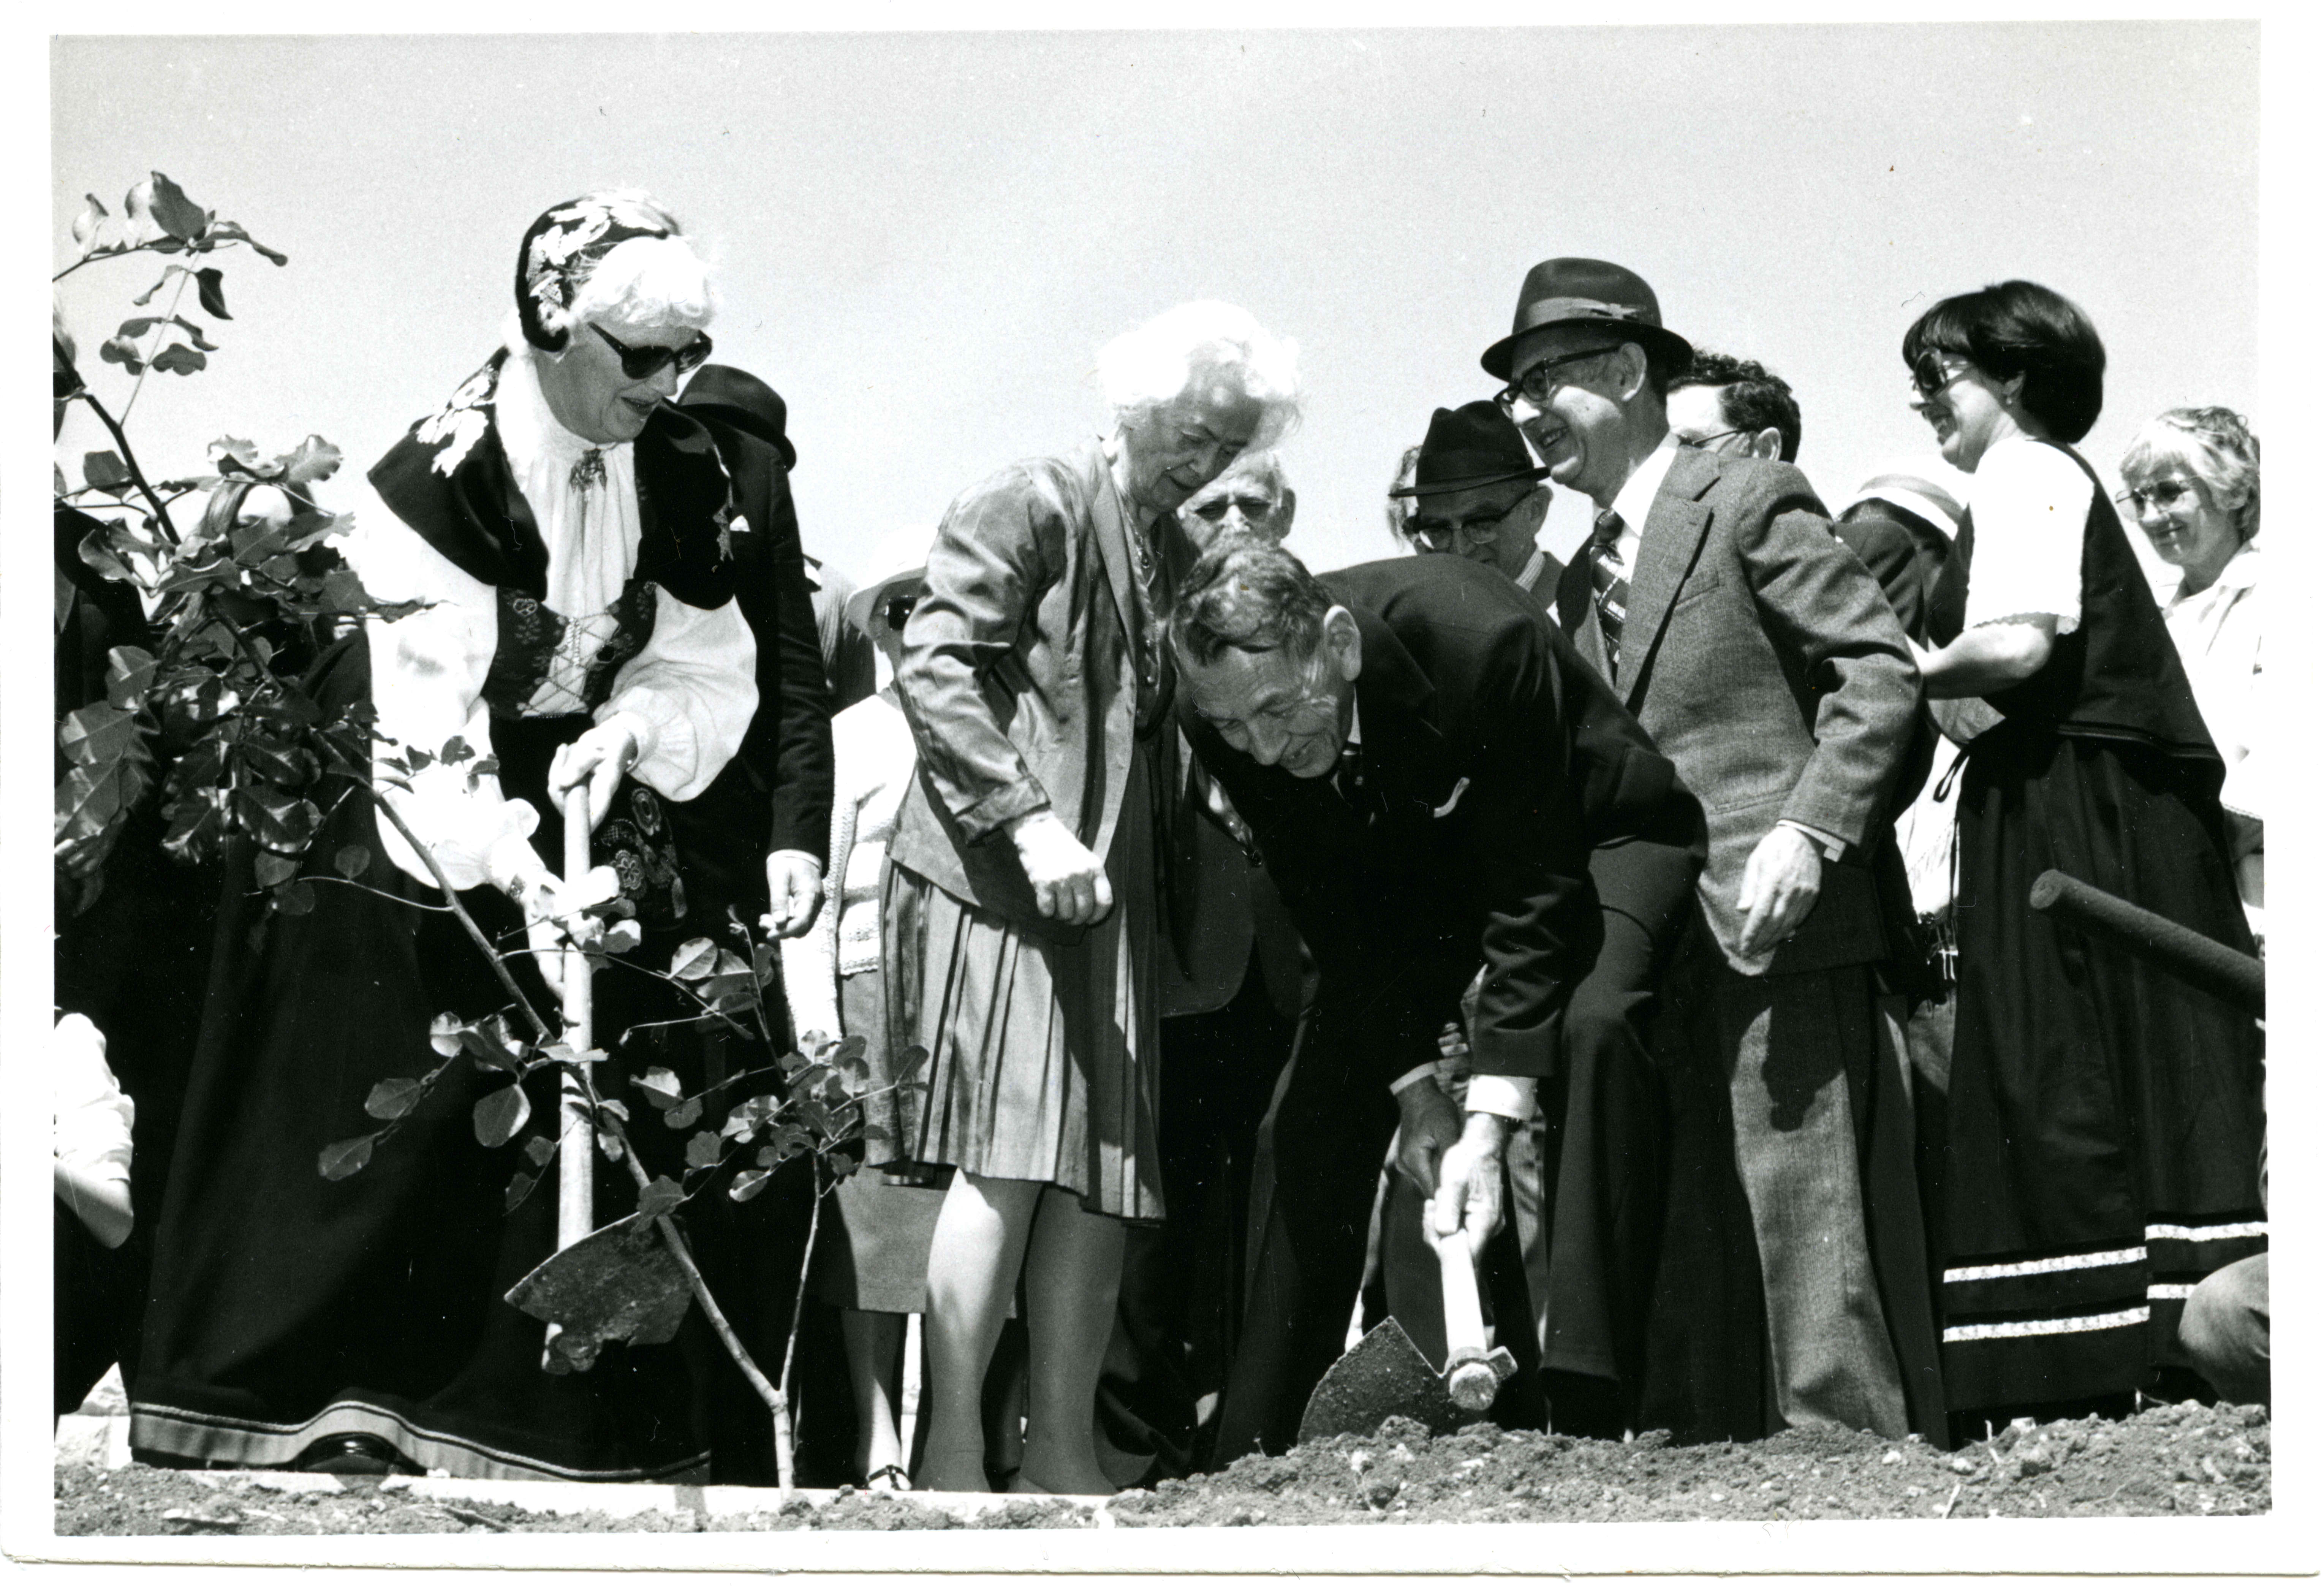
<instances>
[{"instance_id":1,"label":"light-haired smiling woman in glasses and white top at right edge","mask_svg":"<svg viewBox=\"0 0 2324 1586\"><path fill-rule=\"evenodd\" d=\"M2236 855L2243 913L2259 936L2266 906L2259 738L2259 437L2224 406L2157 413L2122 453L2122 499L2178 587L2164 601L2203 708L2210 741L2226 762L2219 806Z\"/></svg>"}]
</instances>

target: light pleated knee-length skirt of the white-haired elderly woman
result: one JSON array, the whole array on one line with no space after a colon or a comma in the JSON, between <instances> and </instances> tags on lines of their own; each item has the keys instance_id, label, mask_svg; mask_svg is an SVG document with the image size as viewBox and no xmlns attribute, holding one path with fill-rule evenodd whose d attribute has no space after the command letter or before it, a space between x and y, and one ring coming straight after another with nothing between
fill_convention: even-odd
<instances>
[{"instance_id":1,"label":"light pleated knee-length skirt of the white-haired elderly woman","mask_svg":"<svg viewBox=\"0 0 2324 1586\"><path fill-rule=\"evenodd\" d=\"M897 1154L1057 1184L1092 1212L1160 1221L1160 887L1143 741L1106 878L1113 910L1064 945L888 866L890 1043L930 1054L930 1089L904 1098Z\"/></svg>"}]
</instances>

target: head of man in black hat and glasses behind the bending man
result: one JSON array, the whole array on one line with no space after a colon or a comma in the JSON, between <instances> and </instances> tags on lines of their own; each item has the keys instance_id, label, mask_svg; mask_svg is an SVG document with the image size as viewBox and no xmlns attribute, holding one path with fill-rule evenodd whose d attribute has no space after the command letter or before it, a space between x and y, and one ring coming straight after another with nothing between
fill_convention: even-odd
<instances>
[{"instance_id":1,"label":"head of man in black hat and glasses behind the bending man","mask_svg":"<svg viewBox=\"0 0 2324 1586\"><path fill-rule=\"evenodd\" d=\"M1390 490L1408 497L1404 536L1415 550L1448 550L1497 567L1548 606L1564 562L1534 539L1550 513L1550 471L1525 450L1525 437L1492 402L1436 409L1420 444L1413 483Z\"/></svg>"}]
</instances>

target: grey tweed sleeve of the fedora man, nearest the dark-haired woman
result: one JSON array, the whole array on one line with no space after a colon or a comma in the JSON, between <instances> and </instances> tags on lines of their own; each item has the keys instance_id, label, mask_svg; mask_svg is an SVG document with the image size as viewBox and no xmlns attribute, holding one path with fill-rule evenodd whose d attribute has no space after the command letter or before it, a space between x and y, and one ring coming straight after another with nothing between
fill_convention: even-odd
<instances>
[{"instance_id":1,"label":"grey tweed sleeve of the fedora man, nearest the dark-haired woman","mask_svg":"<svg viewBox=\"0 0 2324 1586\"><path fill-rule=\"evenodd\" d=\"M1808 478L1771 464L1748 490L1736 550L1769 641L1806 671L1815 694L1815 752L1783 820L1855 848L1873 836L1910 745L1920 669L1880 585L1834 539Z\"/></svg>"}]
</instances>

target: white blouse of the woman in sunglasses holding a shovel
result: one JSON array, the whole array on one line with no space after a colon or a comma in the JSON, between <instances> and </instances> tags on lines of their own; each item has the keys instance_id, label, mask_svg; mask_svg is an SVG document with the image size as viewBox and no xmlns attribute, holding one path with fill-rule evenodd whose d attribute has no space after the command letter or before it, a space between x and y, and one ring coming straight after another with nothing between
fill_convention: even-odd
<instances>
[{"instance_id":1,"label":"white blouse of the woman in sunglasses holding a shovel","mask_svg":"<svg viewBox=\"0 0 2324 1586\"><path fill-rule=\"evenodd\" d=\"M616 632L609 608L637 567L637 462L627 444L593 446L555 420L532 348L514 351L502 365L493 416L509 469L548 548L544 604L572 618L525 713L567 715L581 706L590 659ZM574 483L574 467L588 450L600 453L602 483ZM493 585L453 567L372 490L358 502L346 555L372 597L432 601L425 611L367 629L372 704L379 731L393 738L374 748L374 776L379 757L397 752L397 745L432 755L458 736L479 757L488 755L493 731L483 678L500 643ZM639 759L630 776L686 801L709 787L741 748L758 711L755 666L758 643L734 601L702 611L655 587L653 634L614 673L614 692L595 718L634 718ZM435 764L411 778L409 792L386 792L397 815L435 850L453 887L507 887L518 875L537 873L539 859L528 838L539 813L525 799L502 796L500 778L479 776L469 787L467 766ZM390 824L379 827L379 838L404 873L435 880Z\"/></svg>"}]
</instances>

